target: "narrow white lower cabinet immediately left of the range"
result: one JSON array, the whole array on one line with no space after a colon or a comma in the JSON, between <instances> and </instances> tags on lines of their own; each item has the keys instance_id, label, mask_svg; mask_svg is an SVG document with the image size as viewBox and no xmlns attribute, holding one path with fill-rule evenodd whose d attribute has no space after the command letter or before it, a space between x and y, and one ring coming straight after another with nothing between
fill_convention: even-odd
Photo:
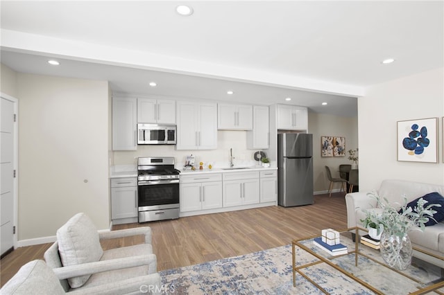
<instances>
[{"instance_id":1,"label":"narrow white lower cabinet immediately left of the range","mask_svg":"<svg viewBox=\"0 0 444 295\"><path fill-rule=\"evenodd\" d=\"M137 217L137 178L111 179L111 219Z\"/></svg>"}]
</instances>

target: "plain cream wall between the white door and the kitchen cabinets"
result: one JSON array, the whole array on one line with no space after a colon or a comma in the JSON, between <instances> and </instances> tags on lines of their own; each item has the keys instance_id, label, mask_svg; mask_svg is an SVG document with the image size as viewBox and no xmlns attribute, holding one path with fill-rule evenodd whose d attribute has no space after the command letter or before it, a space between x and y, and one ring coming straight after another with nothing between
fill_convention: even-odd
<instances>
[{"instance_id":1,"label":"plain cream wall between the white door and the kitchen cabinets","mask_svg":"<svg viewBox=\"0 0 444 295\"><path fill-rule=\"evenodd\" d=\"M85 212L108 229L108 82L17 73L18 240Z\"/></svg>"}]
</instances>

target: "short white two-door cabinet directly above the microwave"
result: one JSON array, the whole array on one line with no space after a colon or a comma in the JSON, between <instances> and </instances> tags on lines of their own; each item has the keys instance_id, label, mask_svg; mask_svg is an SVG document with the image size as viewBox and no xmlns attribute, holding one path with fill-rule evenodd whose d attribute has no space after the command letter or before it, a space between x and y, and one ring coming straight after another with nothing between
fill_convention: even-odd
<instances>
[{"instance_id":1,"label":"short white two-door cabinet directly above the microwave","mask_svg":"<svg viewBox=\"0 0 444 295\"><path fill-rule=\"evenodd\" d=\"M137 123L176 124L176 100L137 98Z\"/></svg>"}]
</instances>

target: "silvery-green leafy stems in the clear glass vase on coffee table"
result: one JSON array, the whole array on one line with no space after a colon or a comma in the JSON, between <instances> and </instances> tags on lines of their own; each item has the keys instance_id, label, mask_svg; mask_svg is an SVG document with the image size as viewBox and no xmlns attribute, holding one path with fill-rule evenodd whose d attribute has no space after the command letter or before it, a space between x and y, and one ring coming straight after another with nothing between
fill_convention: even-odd
<instances>
[{"instance_id":1,"label":"silvery-green leafy stems in the clear glass vase on coffee table","mask_svg":"<svg viewBox=\"0 0 444 295\"><path fill-rule=\"evenodd\" d=\"M362 224L365 227L370 226L378 229L378 234L380 232L379 224L382 224L382 228L388 235L398 235L400 238L414 229L424 231L424 224L429 221L429 218L434 220L433 215L436 211L434 211L432 207L441 207L440 204L429 204L426 206L427 201L420 198L416 206L412 209L411 207L407 207L407 197L403 195L404 205L401 206L400 210L396 210L388 203L386 198L382 199L376 193L368 193L367 195L376 199L377 207L382 208L382 213L364 210L366 218L361 220ZM394 203L393 205L400 204Z\"/></svg>"}]
</instances>

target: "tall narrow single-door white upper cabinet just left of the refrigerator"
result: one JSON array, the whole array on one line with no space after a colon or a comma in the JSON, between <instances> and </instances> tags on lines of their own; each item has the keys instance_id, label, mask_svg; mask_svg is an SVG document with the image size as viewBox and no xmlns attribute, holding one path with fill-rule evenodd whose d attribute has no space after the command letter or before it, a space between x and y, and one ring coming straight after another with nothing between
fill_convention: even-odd
<instances>
[{"instance_id":1,"label":"tall narrow single-door white upper cabinet just left of the refrigerator","mask_svg":"<svg viewBox=\"0 0 444 295\"><path fill-rule=\"evenodd\" d=\"M253 130L247 132L248 149L268 149L270 147L270 118L268 107L253 107Z\"/></svg>"}]
</instances>

